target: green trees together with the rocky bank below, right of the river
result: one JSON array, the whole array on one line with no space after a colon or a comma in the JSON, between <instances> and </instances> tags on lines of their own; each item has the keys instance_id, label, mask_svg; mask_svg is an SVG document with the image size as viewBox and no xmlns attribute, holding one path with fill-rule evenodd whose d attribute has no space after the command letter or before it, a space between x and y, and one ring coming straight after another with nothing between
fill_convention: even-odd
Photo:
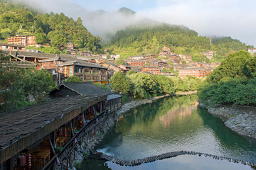
<instances>
[{"instance_id":1,"label":"green trees together with the rocky bank below, right of the river","mask_svg":"<svg viewBox=\"0 0 256 170\"><path fill-rule=\"evenodd\" d=\"M256 57L245 51L228 55L199 87L198 96L201 106L228 128L256 139Z\"/></svg>"}]
</instances>

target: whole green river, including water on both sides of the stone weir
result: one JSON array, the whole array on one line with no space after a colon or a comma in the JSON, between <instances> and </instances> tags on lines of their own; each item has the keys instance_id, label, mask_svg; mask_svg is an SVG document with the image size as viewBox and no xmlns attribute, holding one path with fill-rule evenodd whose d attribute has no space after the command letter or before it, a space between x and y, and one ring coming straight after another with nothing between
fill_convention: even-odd
<instances>
[{"instance_id":1,"label":"whole green river, including water on both sides of the stone weir","mask_svg":"<svg viewBox=\"0 0 256 170\"><path fill-rule=\"evenodd\" d=\"M237 135L219 118L198 107L197 96L161 98L120 118L97 152L133 160L174 151L195 151L256 163L256 141ZM86 159L80 169L252 169L251 166L183 155L140 166Z\"/></svg>"}]
</instances>

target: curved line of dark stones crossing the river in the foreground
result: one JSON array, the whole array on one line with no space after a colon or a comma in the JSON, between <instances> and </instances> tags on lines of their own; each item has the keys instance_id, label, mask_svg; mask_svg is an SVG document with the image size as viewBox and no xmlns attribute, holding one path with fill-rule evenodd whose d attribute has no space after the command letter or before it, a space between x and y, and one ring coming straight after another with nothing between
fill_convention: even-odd
<instances>
[{"instance_id":1,"label":"curved line of dark stones crossing the river in the foreground","mask_svg":"<svg viewBox=\"0 0 256 170\"><path fill-rule=\"evenodd\" d=\"M216 155L213 154L206 154L206 153L201 153L201 152L189 152L189 151L178 151L178 152L168 152L165 154L159 154L156 156L152 156L152 157L146 157L143 159L136 159L136 160L132 160L132 161L126 161L126 160L122 160L122 159L116 159L110 155L98 152L96 155L94 155L93 157L91 157L92 159L103 159L105 161L109 161L109 162L113 162L115 164L119 164L121 166L137 166L140 164L144 164L144 163L149 163L149 162L155 162L161 159L168 159L171 157L177 157L180 155L184 155L184 154L191 154L191 155L198 155L199 157L201 156L205 156L205 157L211 157L213 159L218 159L218 160L226 160L229 162L234 162L234 163L240 163L240 164L245 164L245 165L249 165L249 166L256 166L255 163L253 162L247 162L245 160L240 160L240 159L233 159L233 158L228 158L228 157L218 157Z\"/></svg>"}]
</instances>

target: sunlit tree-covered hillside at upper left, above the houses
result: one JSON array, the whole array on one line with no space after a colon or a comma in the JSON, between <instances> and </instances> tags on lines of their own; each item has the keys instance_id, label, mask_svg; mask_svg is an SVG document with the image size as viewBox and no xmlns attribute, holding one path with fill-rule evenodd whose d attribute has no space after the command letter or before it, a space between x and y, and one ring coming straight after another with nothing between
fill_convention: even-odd
<instances>
[{"instance_id":1,"label":"sunlit tree-covered hillside at upper left, above the houses","mask_svg":"<svg viewBox=\"0 0 256 170\"><path fill-rule=\"evenodd\" d=\"M99 52L102 50L100 37L92 35L82 25L64 13L38 13L23 4L0 0L0 40L7 42L11 35L36 35L36 42L50 42L52 47L73 42L76 48ZM49 41L50 40L50 41Z\"/></svg>"}]
</instances>

